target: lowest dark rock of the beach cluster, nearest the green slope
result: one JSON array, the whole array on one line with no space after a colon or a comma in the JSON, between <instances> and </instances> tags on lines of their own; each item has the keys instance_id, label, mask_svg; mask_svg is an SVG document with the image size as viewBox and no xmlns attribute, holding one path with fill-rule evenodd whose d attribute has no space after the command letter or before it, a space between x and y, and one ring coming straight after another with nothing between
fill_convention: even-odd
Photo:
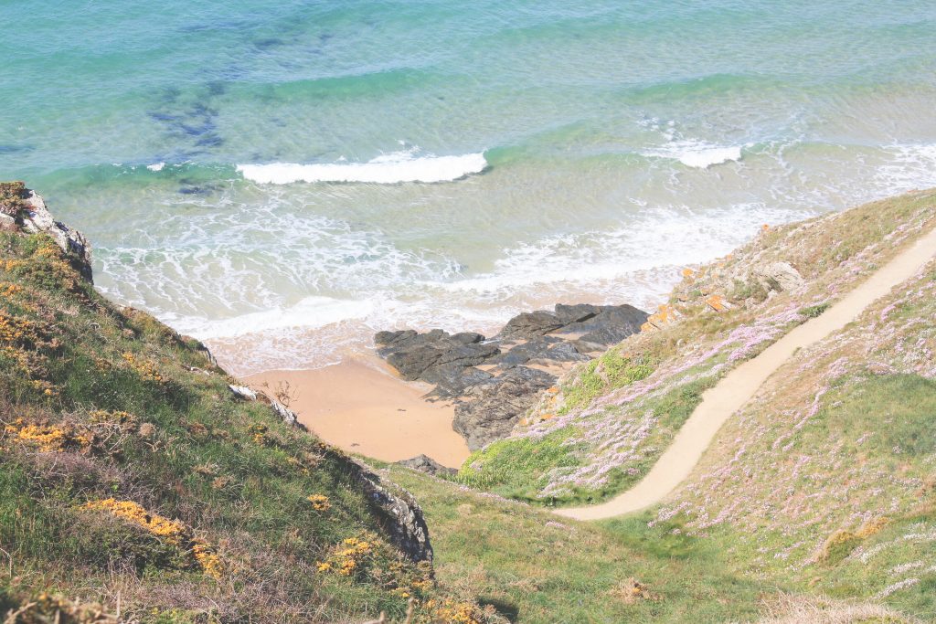
<instances>
[{"instance_id":1,"label":"lowest dark rock of the beach cluster, nearest the green slope","mask_svg":"<svg viewBox=\"0 0 936 624\"><path fill-rule=\"evenodd\" d=\"M505 438L514 425L534 406L540 391L554 385L556 376L543 370L518 366L477 385L455 406L452 428L475 451Z\"/></svg>"}]
</instances>

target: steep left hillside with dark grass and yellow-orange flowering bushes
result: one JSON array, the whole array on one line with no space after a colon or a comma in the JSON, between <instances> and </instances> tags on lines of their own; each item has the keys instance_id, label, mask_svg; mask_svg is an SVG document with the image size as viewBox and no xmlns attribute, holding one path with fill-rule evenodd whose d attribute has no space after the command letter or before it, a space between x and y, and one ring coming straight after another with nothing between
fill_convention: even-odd
<instances>
[{"instance_id":1,"label":"steep left hillside with dark grass and yellow-orange flowering bushes","mask_svg":"<svg viewBox=\"0 0 936 624\"><path fill-rule=\"evenodd\" d=\"M79 257L21 231L22 185L0 192L7 622L402 620L411 598L413 622L497 619L404 555L354 461L100 297Z\"/></svg>"}]
</instances>

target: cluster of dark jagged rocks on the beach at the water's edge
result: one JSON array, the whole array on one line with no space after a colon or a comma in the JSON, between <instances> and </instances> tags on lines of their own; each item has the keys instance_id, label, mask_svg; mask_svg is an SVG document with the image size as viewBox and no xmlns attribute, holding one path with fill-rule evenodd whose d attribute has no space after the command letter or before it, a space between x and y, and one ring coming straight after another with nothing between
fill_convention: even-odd
<instances>
[{"instance_id":1,"label":"cluster of dark jagged rocks on the beach at the water's edge","mask_svg":"<svg viewBox=\"0 0 936 624\"><path fill-rule=\"evenodd\" d=\"M403 379L434 385L435 398L456 400L452 427L475 450L508 435L537 394L556 383L555 375L531 366L591 359L640 331L647 317L629 305L559 304L554 312L518 314L492 340L406 329L382 331L374 341Z\"/></svg>"}]
</instances>

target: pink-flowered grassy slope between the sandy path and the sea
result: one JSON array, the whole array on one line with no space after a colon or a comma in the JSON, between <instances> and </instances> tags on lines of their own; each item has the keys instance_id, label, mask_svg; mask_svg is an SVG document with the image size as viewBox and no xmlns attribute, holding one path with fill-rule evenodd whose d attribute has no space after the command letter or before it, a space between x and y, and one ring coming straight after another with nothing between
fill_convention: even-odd
<instances>
[{"instance_id":1,"label":"pink-flowered grassy slope between the sandy path and the sea","mask_svg":"<svg viewBox=\"0 0 936 624\"><path fill-rule=\"evenodd\" d=\"M933 226L936 193L918 192L765 225L735 253L684 269L644 331L567 374L511 437L465 461L461 483L550 505L635 485L705 389Z\"/></svg>"}]
</instances>

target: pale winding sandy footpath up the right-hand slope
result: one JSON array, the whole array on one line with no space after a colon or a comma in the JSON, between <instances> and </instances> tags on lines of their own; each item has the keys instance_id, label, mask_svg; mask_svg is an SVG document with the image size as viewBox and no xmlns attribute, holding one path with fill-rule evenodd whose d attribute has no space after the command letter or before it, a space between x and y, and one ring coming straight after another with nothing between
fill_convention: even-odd
<instances>
[{"instance_id":1,"label":"pale winding sandy footpath up the right-hand slope","mask_svg":"<svg viewBox=\"0 0 936 624\"><path fill-rule=\"evenodd\" d=\"M936 253L936 229L878 269L821 316L796 327L756 357L732 370L702 395L702 402L680 428L673 443L634 487L600 505L567 507L555 513L577 520L629 514L662 501L689 476L724 422L737 412L787 358L802 347L845 327L876 299L914 276Z\"/></svg>"}]
</instances>

